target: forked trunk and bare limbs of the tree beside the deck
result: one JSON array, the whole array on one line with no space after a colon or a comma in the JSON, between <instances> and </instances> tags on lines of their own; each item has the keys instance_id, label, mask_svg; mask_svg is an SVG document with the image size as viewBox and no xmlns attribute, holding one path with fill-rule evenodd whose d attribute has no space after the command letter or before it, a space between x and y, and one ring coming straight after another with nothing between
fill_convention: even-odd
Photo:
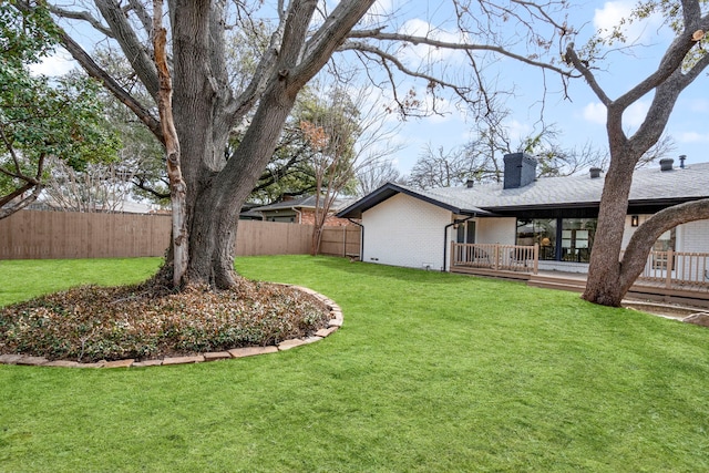
<instances>
[{"instance_id":1,"label":"forked trunk and bare limbs of the tree beside the deck","mask_svg":"<svg viewBox=\"0 0 709 473\"><path fill-rule=\"evenodd\" d=\"M640 225L635 233L637 238L634 237L623 261L620 260L625 217L635 166L660 138L680 93L709 66L709 56L705 55L689 70L684 69L685 59L696 42L691 38L692 31L700 27L699 22L706 23L709 18L700 17L697 2L684 2L682 7L686 9L684 12L686 31L680 32L672 41L655 72L615 101L606 95L587 65L578 59L573 44L567 49L566 59L584 75L607 111L606 130L610 165L606 173L599 204L598 227L590 254L586 289L582 296L590 302L620 306L623 298L643 270L651 244L661 235L661 233L657 234L648 244L647 238L650 238L656 229L647 224L657 222L659 218ZM655 95L647 115L635 134L628 138L623 126L623 114L631 104L651 91L655 91ZM667 228L672 228L686 222L703 218L701 217L705 215L702 208L701 206L669 207L662 210L661 218L665 225L669 225ZM646 235L645 240L640 239L641 235Z\"/></svg>"}]
</instances>

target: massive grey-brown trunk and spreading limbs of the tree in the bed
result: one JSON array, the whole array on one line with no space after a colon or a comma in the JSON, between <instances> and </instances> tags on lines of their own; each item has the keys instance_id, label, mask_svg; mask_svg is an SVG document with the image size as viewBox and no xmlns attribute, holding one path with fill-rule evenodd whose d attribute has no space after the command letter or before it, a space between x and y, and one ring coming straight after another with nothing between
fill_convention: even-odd
<instances>
[{"instance_id":1,"label":"massive grey-brown trunk and spreading limbs of the tree in the bed","mask_svg":"<svg viewBox=\"0 0 709 473\"><path fill-rule=\"evenodd\" d=\"M115 0L95 0L103 19L157 102L158 80L150 51ZM225 55L224 0L171 0L173 115L182 175L186 184L185 227L188 264L183 285L206 284L219 288L238 285L234 271L236 230L242 205L266 167L298 92L330 59L374 0L339 2L327 21L310 31L318 0L292 0L278 11L279 25L256 72L235 96L228 82ZM148 32L152 34L152 32ZM148 34L148 35L150 35ZM163 143L163 127L150 106L134 100L68 34L62 43L84 70L102 81ZM239 147L225 156L232 128L250 113ZM184 241L184 239L182 240ZM156 278L173 280L175 245Z\"/></svg>"}]
</instances>

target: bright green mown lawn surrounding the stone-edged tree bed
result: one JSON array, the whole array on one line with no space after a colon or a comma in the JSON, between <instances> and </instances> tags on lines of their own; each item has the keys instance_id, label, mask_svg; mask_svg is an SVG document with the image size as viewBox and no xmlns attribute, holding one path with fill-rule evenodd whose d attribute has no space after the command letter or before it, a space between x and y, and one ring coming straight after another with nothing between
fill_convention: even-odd
<instances>
[{"instance_id":1,"label":"bright green mown lawn surrounding the stone-edged tree bed","mask_svg":"<svg viewBox=\"0 0 709 473\"><path fill-rule=\"evenodd\" d=\"M0 304L157 265L1 261ZM0 471L709 471L706 328L346 259L237 268L327 295L345 327L213 363L0 367Z\"/></svg>"}]
</instances>

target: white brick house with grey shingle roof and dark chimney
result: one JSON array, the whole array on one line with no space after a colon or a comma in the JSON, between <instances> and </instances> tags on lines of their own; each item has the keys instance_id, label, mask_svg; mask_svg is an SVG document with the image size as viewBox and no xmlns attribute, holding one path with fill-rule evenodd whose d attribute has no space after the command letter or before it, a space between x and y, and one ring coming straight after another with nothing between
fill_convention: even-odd
<instances>
[{"instance_id":1,"label":"white brick house with grey shingle roof and dark chimney","mask_svg":"<svg viewBox=\"0 0 709 473\"><path fill-rule=\"evenodd\" d=\"M338 217L360 219L362 261L450 270L455 245L499 244L536 248L538 269L587 273L605 181L600 169L536 178L536 160L523 153L506 155L504 165L504 183L469 182L431 191L388 183L342 209ZM685 166L682 157L680 166L675 166L674 160L662 160L659 168L637 169L624 247L650 215L707 197L709 163ZM709 254L709 220L667 232L656 249ZM480 248L475 251L469 258L483 253ZM707 269L709 266L703 271Z\"/></svg>"}]
</instances>

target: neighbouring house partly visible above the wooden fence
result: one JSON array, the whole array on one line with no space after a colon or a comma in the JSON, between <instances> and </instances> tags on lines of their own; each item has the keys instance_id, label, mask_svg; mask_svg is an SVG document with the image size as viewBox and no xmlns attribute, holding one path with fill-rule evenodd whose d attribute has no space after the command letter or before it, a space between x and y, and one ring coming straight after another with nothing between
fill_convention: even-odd
<instances>
[{"instance_id":1,"label":"neighbouring house partly visible above the wooden fence","mask_svg":"<svg viewBox=\"0 0 709 473\"><path fill-rule=\"evenodd\" d=\"M347 218L338 218L335 216L335 213L347 206L350 202L351 199L335 199L330 208L330 215L328 215L325 225L350 225L351 222ZM322 205L321 200L319 205ZM267 222L287 222L294 224L312 225L315 223L315 196L310 195L298 198L286 198L282 202L277 202L275 204L254 207L249 210L249 214L258 214L261 216L261 219Z\"/></svg>"}]
</instances>

